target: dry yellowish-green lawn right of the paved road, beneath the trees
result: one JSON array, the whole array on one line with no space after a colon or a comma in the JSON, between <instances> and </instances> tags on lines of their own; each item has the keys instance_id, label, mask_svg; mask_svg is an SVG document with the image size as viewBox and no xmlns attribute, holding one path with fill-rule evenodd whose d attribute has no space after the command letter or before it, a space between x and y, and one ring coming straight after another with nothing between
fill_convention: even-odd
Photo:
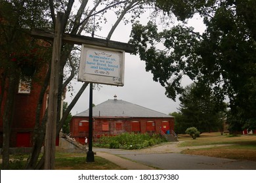
<instances>
[{"instance_id":1,"label":"dry yellowish-green lawn right of the paved road, beneath the trees","mask_svg":"<svg viewBox=\"0 0 256 183\"><path fill-rule=\"evenodd\" d=\"M183 154L212 156L217 158L242 159L256 161L256 135L221 135L220 133L202 133L193 140L188 135L181 135L180 146L187 146ZM226 146L213 146L212 148L189 149L190 146L204 146L226 144Z\"/></svg>"}]
</instances>

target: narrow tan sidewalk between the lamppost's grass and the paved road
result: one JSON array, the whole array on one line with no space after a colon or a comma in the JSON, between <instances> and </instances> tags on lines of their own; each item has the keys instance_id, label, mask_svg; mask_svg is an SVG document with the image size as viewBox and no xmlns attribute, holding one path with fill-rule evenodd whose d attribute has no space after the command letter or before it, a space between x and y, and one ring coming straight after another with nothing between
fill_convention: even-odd
<instances>
[{"instance_id":1,"label":"narrow tan sidewalk between the lamppost's grass and the paved road","mask_svg":"<svg viewBox=\"0 0 256 183\"><path fill-rule=\"evenodd\" d=\"M108 154L106 152L96 152L96 156L100 156L101 158L108 159L108 161L111 161L112 163L115 163L119 167L127 170L156 170L153 167L148 167L140 163L135 163L133 161L120 158L119 156Z\"/></svg>"}]
</instances>

